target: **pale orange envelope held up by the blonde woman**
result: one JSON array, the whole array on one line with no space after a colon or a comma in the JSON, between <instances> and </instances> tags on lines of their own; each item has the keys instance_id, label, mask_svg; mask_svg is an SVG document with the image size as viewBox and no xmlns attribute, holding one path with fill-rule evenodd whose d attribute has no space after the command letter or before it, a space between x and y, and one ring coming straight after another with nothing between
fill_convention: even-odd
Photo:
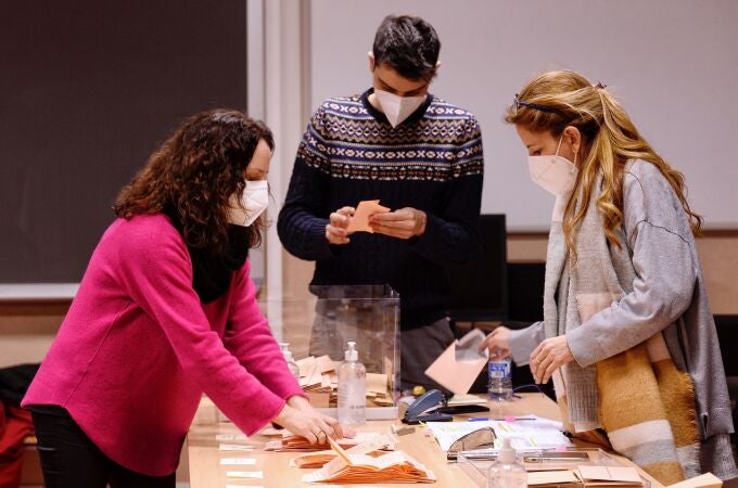
<instances>
[{"instance_id":1,"label":"pale orange envelope held up by the blonde woman","mask_svg":"<svg viewBox=\"0 0 738 488\"><path fill-rule=\"evenodd\" d=\"M450 346L427 370L429 377L457 395L466 395L488 361L488 351L479 352L484 333L474 329Z\"/></svg>"}]
</instances>

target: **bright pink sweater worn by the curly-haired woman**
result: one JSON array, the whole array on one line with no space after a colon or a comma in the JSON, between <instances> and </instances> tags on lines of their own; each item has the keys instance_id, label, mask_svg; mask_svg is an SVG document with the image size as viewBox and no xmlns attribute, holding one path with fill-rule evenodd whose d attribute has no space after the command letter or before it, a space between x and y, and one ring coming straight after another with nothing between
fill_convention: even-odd
<instances>
[{"instance_id":1,"label":"bright pink sweater worn by the curly-haired woman","mask_svg":"<svg viewBox=\"0 0 738 488\"><path fill-rule=\"evenodd\" d=\"M251 435L304 394L259 311L249 268L203 305L167 217L115 220L23 406L65 408L109 458L151 476L176 470L203 391Z\"/></svg>"}]
</instances>

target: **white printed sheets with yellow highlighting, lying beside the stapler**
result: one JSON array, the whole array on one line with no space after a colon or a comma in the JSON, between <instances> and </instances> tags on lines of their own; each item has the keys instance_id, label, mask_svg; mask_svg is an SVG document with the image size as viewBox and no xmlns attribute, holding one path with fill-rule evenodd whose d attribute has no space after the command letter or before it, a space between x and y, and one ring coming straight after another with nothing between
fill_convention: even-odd
<instances>
[{"instance_id":1,"label":"white printed sheets with yellow highlighting, lying beside the stapler","mask_svg":"<svg viewBox=\"0 0 738 488\"><path fill-rule=\"evenodd\" d=\"M526 419L514 422L476 421L476 422L428 422L428 427L441 445L441 449L448 451L451 444L460 437L484 427L492 427L497 435L495 448L502 446L502 439L510 437L514 449L545 449L556 447L571 447L573 444L563 435L561 422L542 419L536 415L524 415Z\"/></svg>"}]
</instances>

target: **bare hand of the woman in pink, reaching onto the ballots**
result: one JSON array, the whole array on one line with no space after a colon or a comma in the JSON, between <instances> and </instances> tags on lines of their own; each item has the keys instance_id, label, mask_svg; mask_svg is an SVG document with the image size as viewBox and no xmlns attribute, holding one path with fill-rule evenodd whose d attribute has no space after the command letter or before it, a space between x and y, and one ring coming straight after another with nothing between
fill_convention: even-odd
<instances>
[{"instance_id":1,"label":"bare hand of the woman in pink, reaching onto the ballots","mask_svg":"<svg viewBox=\"0 0 738 488\"><path fill-rule=\"evenodd\" d=\"M291 433L305 437L310 444L325 444L328 437L340 439L344 436L339 421L315 410L306 398L291 397L273 419Z\"/></svg>"}]
</instances>

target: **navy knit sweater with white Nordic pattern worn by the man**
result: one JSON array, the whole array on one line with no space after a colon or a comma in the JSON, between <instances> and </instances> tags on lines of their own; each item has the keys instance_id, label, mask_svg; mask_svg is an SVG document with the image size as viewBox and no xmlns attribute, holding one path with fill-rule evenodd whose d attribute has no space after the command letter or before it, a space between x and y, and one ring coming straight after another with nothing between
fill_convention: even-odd
<instances>
[{"instance_id":1,"label":"navy knit sweater with white Nordic pattern worn by the man","mask_svg":"<svg viewBox=\"0 0 738 488\"><path fill-rule=\"evenodd\" d=\"M329 99L313 115L278 232L291 254L316 261L311 284L390 284L402 329L412 329L445 317L445 267L480 253L482 134L471 113L431 94L393 128L369 103L371 92ZM393 210L425 211L423 235L357 232L346 245L328 243L332 211L377 198Z\"/></svg>"}]
</instances>

